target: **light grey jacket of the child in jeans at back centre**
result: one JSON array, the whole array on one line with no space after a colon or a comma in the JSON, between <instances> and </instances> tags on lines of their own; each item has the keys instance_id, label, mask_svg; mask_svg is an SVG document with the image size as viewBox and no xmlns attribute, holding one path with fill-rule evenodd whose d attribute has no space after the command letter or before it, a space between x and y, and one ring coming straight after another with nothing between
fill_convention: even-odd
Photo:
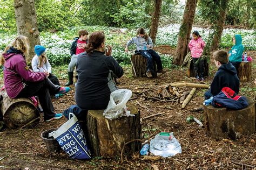
<instances>
[{"instance_id":1,"label":"light grey jacket of the child in jeans at back centre","mask_svg":"<svg viewBox=\"0 0 256 170\"><path fill-rule=\"evenodd\" d=\"M143 37L133 37L131 40L129 40L126 44L127 47L129 47L131 44L136 44L137 50L148 50L153 47L152 39L149 37L147 38L147 41ZM145 45L149 45L150 48L145 49Z\"/></svg>"}]
</instances>

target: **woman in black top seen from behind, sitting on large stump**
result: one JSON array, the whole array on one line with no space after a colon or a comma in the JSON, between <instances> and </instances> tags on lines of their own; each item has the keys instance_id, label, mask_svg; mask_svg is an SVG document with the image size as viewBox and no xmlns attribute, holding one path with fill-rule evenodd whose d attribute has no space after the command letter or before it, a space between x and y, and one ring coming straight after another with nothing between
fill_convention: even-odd
<instances>
[{"instance_id":1,"label":"woman in black top seen from behind, sitting on large stump","mask_svg":"<svg viewBox=\"0 0 256 170\"><path fill-rule=\"evenodd\" d=\"M83 110L106 109L110 93L117 89L109 80L110 75L122 77L123 68L111 56L112 48L105 46L102 31L91 33L85 51L77 58L76 103Z\"/></svg>"}]
</instances>

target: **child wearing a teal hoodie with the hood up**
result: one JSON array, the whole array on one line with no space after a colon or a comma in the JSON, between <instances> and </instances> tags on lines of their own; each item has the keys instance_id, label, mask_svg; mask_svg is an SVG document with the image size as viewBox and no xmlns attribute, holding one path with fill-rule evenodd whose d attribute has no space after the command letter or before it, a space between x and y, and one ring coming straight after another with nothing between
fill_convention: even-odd
<instances>
[{"instance_id":1,"label":"child wearing a teal hoodie with the hood up","mask_svg":"<svg viewBox=\"0 0 256 170\"><path fill-rule=\"evenodd\" d=\"M229 61L238 71L238 67L242 62L242 52L244 52L244 46L242 45L242 37L239 34L235 34L233 37L234 46L228 52Z\"/></svg>"}]
</instances>

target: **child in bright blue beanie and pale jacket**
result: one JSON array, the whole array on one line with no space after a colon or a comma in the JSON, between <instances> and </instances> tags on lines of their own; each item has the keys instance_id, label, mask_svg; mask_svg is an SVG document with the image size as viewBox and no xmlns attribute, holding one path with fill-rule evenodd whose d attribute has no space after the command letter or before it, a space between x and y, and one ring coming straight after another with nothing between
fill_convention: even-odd
<instances>
[{"instance_id":1,"label":"child in bright blue beanie and pale jacket","mask_svg":"<svg viewBox=\"0 0 256 170\"><path fill-rule=\"evenodd\" d=\"M34 72L48 72L48 79L55 84L60 86L58 78L51 73L51 65L45 55L45 47L41 45L35 46L36 55L33 57L31 65Z\"/></svg>"}]
</instances>

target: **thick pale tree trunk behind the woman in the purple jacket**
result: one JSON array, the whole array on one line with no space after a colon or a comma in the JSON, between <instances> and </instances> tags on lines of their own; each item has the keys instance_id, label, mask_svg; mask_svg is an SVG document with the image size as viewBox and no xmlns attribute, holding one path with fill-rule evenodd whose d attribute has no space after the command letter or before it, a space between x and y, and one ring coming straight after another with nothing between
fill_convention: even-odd
<instances>
[{"instance_id":1,"label":"thick pale tree trunk behind the woman in the purple jacket","mask_svg":"<svg viewBox=\"0 0 256 170\"><path fill-rule=\"evenodd\" d=\"M33 0L15 0L15 17L18 35L29 38L30 49L26 60L31 62L35 45L40 44L39 31L37 28L37 17L35 10L35 1Z\"/></svg>"}]
</instances>

